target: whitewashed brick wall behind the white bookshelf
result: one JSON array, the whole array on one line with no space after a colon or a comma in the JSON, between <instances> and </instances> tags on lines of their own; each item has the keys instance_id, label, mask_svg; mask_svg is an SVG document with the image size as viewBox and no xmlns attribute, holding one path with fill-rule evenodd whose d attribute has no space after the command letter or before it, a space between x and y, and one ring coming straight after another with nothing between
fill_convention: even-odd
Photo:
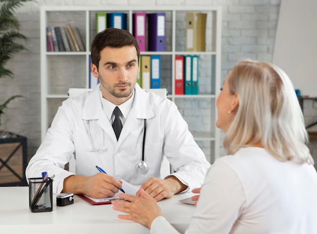
<instances>
[{"instance_id":1,"label":"whitewashed brick wall behind the white bookshelf","mask_svg":"<svg viewBox=\"0 0 317 234\"><path fill-rule=\"evenodd\" d=\"M41 143L40 71L39 71L39 7L43 5L102 5L102 6L205 6L221 5L222 23L222 79L237 59L249 57L271 62L280 0L45 0L28 3L18 9L21 32L29 40L28 51L14 57L8 66L15 78L0 80L0 103L13 94L26 99L13 101L6 109L2 128L28 138L28 155L32 156ZM191 105L204 108L204 103ZM190 113L182 113L189 121ZM191 121L191 120L190 120ZM202 123L203 124L203 123ZM223 134L221 135L223 138ZM204 148L204 142L199 145ZM222 150L221 154L225 154Z\"/></svg>"}]
</instances>

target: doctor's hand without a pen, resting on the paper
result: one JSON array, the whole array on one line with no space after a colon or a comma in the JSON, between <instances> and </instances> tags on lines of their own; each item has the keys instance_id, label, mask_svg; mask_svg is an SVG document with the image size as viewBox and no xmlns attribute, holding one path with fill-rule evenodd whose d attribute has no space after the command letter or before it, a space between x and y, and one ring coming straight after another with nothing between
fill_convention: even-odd
<instances>
[{"instance_id":1,"label":"doctor's hand without a pen, resting on the paper","mask_svg":"<svg viewBox=\"0 0 317 234\"><path fill-rule=\"evenodd\" d=\"M141 195L141 189L153 197L156 202L159 202L159 200L162 200L163 198L170 198L175 193L184 191L187 189L187 186L180 182L180 180L178 180L175 176L169 176L164 180L151 177L142 184L140 189L137 191L136 196Z\"/></svg>"}]
</instances>

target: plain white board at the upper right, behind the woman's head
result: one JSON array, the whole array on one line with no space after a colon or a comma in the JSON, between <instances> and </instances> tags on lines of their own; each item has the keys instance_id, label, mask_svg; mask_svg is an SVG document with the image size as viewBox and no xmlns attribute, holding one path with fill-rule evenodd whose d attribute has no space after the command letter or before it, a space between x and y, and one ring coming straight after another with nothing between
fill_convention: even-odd
<instances>
[{"instance_id":1,"label":"plain white board at the upper right, behind the woman's head","mask_svg":"<svg viewBox=\"0 0 317 234\"><path fill-rule=\"evenodd\" d=\"M272 62L289 74L301 95L317 96L317 1L281 3Z\"/></svg>"}]
</instances>

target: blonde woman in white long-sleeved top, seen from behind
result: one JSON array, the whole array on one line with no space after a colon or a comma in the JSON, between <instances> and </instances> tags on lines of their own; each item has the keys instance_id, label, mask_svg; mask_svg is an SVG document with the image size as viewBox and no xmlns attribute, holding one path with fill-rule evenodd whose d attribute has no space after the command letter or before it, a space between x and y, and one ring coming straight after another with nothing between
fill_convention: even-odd
<instances>
[{"instance_id":1,"label":"blonde woman in white long-sleeved top, seen from behind","mask_svg":"<svg viewBox=\"0 0 317 234\"><path fill-rule=\"evenodd\" d=\"M217 98L217 127L226 156L209 169L193 196L185 233L317 233L317 174L289 77L277 66L240 60ZM178 233L149 195L121 195L113 209L151 233ZM199 199L198 199L199 198Z\"/></svg>"}]
</instances>

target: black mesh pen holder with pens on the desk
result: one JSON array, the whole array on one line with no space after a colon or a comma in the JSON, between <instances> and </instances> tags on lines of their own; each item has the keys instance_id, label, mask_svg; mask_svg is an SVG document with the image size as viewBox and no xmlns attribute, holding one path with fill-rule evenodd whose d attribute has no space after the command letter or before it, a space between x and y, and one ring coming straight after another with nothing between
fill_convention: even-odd
<instances>
[{"instance_id":1,"label":"black mesh pen holder with pens on the desk","mask_svg":"<svg viewBox=\"0 0 317 234\"><path fill-rule=\"evenodd\" d=\"M29 178L29 208L31 212L53 210L53 187L51 178Z\"/></svg>"}]
</instances>

